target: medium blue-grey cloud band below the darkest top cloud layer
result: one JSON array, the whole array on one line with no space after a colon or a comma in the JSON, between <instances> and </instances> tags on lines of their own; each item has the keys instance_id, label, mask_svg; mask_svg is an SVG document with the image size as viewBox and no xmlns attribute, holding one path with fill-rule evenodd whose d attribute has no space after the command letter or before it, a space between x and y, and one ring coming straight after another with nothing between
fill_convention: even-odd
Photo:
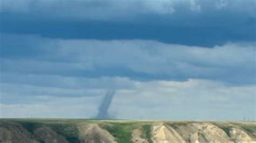
<instances>
[{"instance_id":1,"label":"medium blue-grey cloud band below the darkest top cloud layer","mask_svg":"<svg viewBox=\"0 0 256 143\"><path fill-rule=\"evenodd\" d=\"M205 48L146 40L62 40L42 37L30 40L33 35L5 34L2 37L9 37L1 48L4 49L0 67L2 73L129 77L138 81L204 78L231 84L255 83L255 42ZM18 37L22 40L15 40ZM19 54L12 51L11 41L25 47L21 49L26 52ZM2 78L2 81L8 82L8 79Z\"/></svg>"}]
</instances>

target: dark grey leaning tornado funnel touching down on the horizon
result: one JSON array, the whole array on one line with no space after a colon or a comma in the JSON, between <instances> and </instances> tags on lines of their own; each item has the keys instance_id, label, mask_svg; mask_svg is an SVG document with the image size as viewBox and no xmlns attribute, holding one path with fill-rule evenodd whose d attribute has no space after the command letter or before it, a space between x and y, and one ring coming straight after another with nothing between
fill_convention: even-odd
<instances>
[{"instance_id":1,"label":"dark grey leaning tornado funnel touching down on the horizon","mask_svg":"<svg viewBox=\"0 0 256 143\"><path fill-rule=\"evenodd\" d=\"M111 119L108 111L115 92L116 90L107 90L106 95L98 108L98 114L96 116L97 119Z\"/></svg>"}]
</instances>

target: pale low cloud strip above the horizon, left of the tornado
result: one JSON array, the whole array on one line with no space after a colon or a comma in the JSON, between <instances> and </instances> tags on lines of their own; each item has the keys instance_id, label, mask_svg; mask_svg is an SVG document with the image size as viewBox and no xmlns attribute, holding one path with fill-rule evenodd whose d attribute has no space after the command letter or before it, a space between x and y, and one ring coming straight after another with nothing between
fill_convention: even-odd
<instances>
[{"instance_id":1,"label":"pale low cloud strip above the horizon, left of the tornado","mask_svg":"<svg viewBox=\"0 0 256 143\"><path fill-rule=\"evenodd\" d=\"M31 104L0 104L1 118L90 118L97 112L99 97L38 97Z\"/></svg>"}]
</instances>

